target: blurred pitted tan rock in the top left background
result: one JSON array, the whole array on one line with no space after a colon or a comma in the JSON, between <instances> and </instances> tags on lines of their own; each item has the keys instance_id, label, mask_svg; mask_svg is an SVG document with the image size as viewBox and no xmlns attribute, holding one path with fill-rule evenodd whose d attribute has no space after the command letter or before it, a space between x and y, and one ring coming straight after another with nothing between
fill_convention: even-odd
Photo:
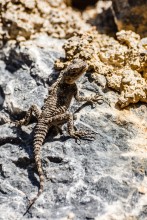
<instances>
[{"instance_id":1,"label":"blurred pitted tan rock in the top left background","mask_svg":"<svg viewBox=\"0 0 147 220\"><path fill-rule=\"evenodd\" d=\"M36 34L69 38L87 30L80 13L69 7L67 0L0 1L0 40L25 41Z\"/></svg>"}]
</instances>

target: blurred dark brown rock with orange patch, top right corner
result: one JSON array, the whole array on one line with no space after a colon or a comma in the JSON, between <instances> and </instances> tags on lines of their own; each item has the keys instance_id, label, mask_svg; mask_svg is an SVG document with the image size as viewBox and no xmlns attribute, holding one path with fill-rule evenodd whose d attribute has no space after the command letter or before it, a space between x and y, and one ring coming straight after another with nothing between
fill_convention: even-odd
<instances>
[{"instance_id":1,"label":"blurred dark brown rock with orange patch, top right corner","mask_svg":"<svg viewBox=\"0 0 147 220\"><path fill-rule=\"evenodd\" d=\"M112 6L118 30L132 30L147 36L146 0L112 0Z\"/></svg>"}]
</instances>

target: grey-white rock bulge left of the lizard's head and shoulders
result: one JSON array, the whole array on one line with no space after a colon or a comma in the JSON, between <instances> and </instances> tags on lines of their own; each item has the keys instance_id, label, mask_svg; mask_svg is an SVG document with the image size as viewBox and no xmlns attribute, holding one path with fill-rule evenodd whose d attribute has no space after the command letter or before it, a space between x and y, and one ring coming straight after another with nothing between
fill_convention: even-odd
<instances>
[{"instance_id":1,"label":"grey-white rock bulge left of the lizard's head and shoulders","mask_svg":"<svg viewBox=\"0 0 147 220\"><path fill-rule=\"evenodd\" d=\"M53 72L54 60L61 55L64 56L61 42L40 36L34 43L27 41L21 44L20 49L14 46L14 48L10 47L7 53L5 52L6 64L2 63L2 66L6 65L6 68L13 72L13 75L8 71L0 73L2 74L0 86L5 96L3 107L7 111L12 114L26 111L32 105L32 97L39 107L43 105L43 100L48 94L48 90L43 85L48 82ZM5 77L8 77L8 82L5 81Z\"/></svg>"}]
</instances>

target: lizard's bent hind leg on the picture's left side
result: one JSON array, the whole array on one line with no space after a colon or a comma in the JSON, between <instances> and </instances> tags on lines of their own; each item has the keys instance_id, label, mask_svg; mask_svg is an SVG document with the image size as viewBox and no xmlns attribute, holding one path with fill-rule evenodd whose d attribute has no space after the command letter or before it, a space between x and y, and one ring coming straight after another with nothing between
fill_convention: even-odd
<instances>
[{"instance_id":1,"label":"lizard's bent hind leg on the picture's left side","mask_svg":"<svg viewBox=\"0 0 147 220\"><path fill-rule=\"evenodd\" d=\"M30 119L31 119L33 113L34 113L35 117L38 119L41 114L41 110L37 107L37 105L32 105L29 108L29 110L27 111L26 116L23 119L21 119L20 121L16 121L15 124L17 126L27 125L30 122Z\"/></svg>"}]
</instances>

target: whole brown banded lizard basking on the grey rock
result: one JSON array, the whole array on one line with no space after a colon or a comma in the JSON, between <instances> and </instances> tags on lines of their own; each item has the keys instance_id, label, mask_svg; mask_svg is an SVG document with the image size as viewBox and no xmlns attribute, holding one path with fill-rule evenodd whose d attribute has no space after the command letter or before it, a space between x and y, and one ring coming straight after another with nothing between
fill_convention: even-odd
<instances>
[{"instance_id":1,"label":"whole brown banded lizard basking on the grey rock","mask_svg":"<svg viewBox=\"0 0 147 220\"><path fill-rule=\"evenodd\" d=\"M87 63L85 61L82 59L74 59L71 64L60 72L56 82L50 87L48 97L45 99L42 109L39 109L36 105L32 105L26 112L25 117L15 122L16 126L27 125L32 115L34 115L38 120L35 126L33 148L40 186L36 197L29 201L29 208L27 211L43 192L45 179L41 164L40 151L49 128L51 126L58 128L59 124L62 122L67 122L67 130L71 137L79 139L80 137L89 135L88 131L75 130L73 123L74 115L68 111L73 97L77 101L90 102L96 102L102 99L102 97L98 94L90 97L79 95L76 81L81 77L81 75L84 74L86 70Z\"/></svg>"}]
</instances>

